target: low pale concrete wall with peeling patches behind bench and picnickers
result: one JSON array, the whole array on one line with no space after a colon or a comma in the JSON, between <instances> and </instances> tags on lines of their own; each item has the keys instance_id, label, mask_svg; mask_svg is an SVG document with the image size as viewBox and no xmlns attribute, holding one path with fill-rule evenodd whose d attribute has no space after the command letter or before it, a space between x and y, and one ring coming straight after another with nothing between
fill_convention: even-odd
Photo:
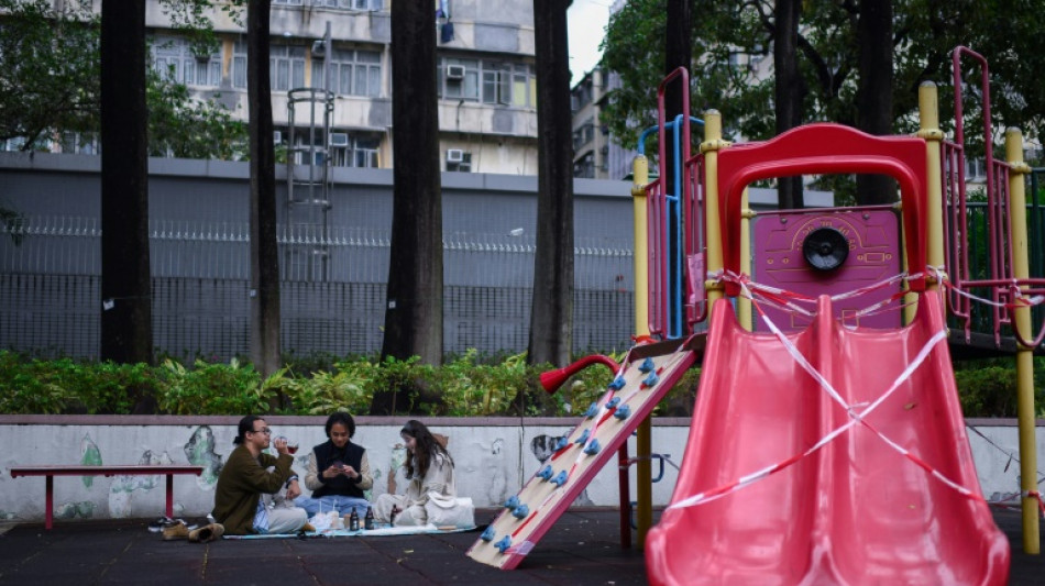
<instances>
[{"instance_id":1,"label":"low pale concrete wall with peeling patches behind bench and picnickers","mask_svg":"<svg viewBox=\"0 0 1045 586\"><path fill-rule=\"evenodd\" d=\"M234 417L87 417L0 416L0 520L41 521L44 517L44 479L11 478L10 468L25 465L75 464L100 461L107 464L194 463L206 466L199 477L175 478L175 513L202 517L213 504L213 488L220 466L232 451ZM358 418L354 442L367 450L374 474L370 498L389 490L396 478L394 461L402 462L399 429L407 418ZM295 469L305 472L309 447L324 440L322 417L271 417L274 435L300 442ZM444 418L426 419L433 432L450 439L457 463L458 491L472 497L479 507L493 507L521 488L549 452L544 449L576 423L566 418ZM689 435L688 419L653 421L653 451L671 455L681 464ZM979 471L980 486L993 493L1019 490L1016 427L1013 420L970 420L988 440L969 433ZM1038 422L1037 450L1045 450L1045 423ZM634 439L630 452L635 453ZM991 442L996 445L991 445ZM618 502L617 468L606 465L588 485L578 505L615 507ZM913 465L898 455L898 466ZM653 474L657 475L657 464ZM398 484L403 485L402 472ZM631 495L635 478L631 474ZM666 466L664 477L653 485L653 502L666 505L678 478ZM394 489L394 488L393 488ZM55 516L58 519L157 517L164 507L163 477L97 476L55 479Z\"/></svg>"}]
</instances>

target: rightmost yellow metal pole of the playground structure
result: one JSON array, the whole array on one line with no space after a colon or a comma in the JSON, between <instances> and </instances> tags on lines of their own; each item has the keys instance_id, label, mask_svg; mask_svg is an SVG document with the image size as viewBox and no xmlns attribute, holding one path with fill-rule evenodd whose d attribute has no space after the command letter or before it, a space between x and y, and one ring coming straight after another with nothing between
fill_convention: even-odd
<instances>
[{"instance_id":1,"label":"rightmost yellow metal pole of the playground structure","mask_svg":"<svg viewBox=\"0 0 1045 586\"><path fill-rule=\"evenodd\" d=\"M1027 259L1026 192L1023 176L1031 168L1023 161L1023 134L1019 129L1005 131L1005 159L1012 166L1009 174L1009 221L1012 225L1012 272L1018 279L1030 276ZM1013 327L1024 340L1031 332L1031 308L1013 311ZM1037 447L1034 429L1034 353L1020 344L1016 349L1016 418L1020 423L1020 490L1023 493L1023 551L1041 553L1037 500L1028 493L1037 490Z\"/></svg>"}]
</instances>

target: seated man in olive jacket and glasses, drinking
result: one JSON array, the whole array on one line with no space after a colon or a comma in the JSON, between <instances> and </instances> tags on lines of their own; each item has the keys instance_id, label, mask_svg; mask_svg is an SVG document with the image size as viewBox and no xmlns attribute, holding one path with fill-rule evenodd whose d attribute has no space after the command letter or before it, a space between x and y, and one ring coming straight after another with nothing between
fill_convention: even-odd
<instances>
[{"instance_id":1,"label":"seated man in olive jacket and glasses, drinking","mask_svg":"<svg viewBox=\"0 0 1045 586\"><path fill-rule=\"evenodd\" d=\"M287 501L301 494L297 476L290 469L294 456L287 451L287 441L276 440L278 457L263 452L271 438L272 430L264 419L246 416L240 420L239 434L232 441L237 447L229 454L215 489L212 515L228 534L294 533L308 521L305 509L272 509L262 499L262 493L275 494L284 487Z\"/></svg>"}]
</instances>

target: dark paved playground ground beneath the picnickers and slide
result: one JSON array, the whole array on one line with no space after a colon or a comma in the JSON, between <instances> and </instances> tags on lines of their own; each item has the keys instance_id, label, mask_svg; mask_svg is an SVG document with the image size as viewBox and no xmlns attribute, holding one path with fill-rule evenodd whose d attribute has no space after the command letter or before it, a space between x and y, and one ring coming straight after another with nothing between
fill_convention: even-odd
<instances>
[{"instance_id":1,"label":"dark paved playground ground beneath the picnickers and slide","mask_svg":"<svg viewBox=\"0 0 1045 586\"><path fill-rule=\"evenodd\" d=\"M20 524L0 535L0 584L646 584L617 520L612 510L568 512L512 572L464 556L477 531L196 544L164 542L146 520ZM1019 513L996 520L1013 543L1010 584L1045 584L1045 556L1022 553Z\"/></svg>"}]
</instances>

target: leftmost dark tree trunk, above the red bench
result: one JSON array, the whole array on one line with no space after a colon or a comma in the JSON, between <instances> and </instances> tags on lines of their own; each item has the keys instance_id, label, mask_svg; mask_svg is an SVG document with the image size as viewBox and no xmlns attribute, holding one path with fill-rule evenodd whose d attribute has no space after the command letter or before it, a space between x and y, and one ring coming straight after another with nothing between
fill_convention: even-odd
<instances>
[{"instance_id":1,"label":"leftmost dark tree trunk, above the red bench","mask_svg":"<svg viewBox=\"0 0 1045 586\"><path fill-rule=\"evenodd\" d=\"M101 360L153 362L145 0L101 5ZM155 401L128 389L135 412Z\"/></svg>"}]
</instances>

